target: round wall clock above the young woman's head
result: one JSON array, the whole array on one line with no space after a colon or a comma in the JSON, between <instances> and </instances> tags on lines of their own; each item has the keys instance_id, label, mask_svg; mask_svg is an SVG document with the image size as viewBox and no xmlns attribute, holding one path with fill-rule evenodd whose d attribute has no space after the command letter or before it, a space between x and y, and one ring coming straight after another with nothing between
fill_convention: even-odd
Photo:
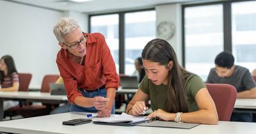
<instances>
[{"instance_id":1,"label":"round wall clock above the young woman's head","mask_svg":"<svg viewBox=\"0 0 256 134\"><path fill-rule=\"evenodd\" d=\"M174 34L175 26L172 22L161 22L157 25L157 36L164 40L170 40Z\"/></svg>"}]
</instances>

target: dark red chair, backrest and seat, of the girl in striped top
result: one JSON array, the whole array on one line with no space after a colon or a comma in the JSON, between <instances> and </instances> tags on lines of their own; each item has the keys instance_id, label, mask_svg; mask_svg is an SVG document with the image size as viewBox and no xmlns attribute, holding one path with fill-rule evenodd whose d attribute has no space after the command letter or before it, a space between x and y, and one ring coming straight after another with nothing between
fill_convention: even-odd
<instances>
[{"instance_id":1,"label":"dark red chair, backrest and seat, of the girl in striped top","mask_svg":"<svg viewBox=\"0 0 256 134\"><path fill-rule=\"evenodd\" d=\"M29 83L31 81L32 74L31 73L19 73L19 91L25 91L28 92ZM10 117L12 120L13 116L19 115L17 111L20 107L22 107L24 103L22 101L19 101L19 105L15 107L11 107L8 110L4 111L4 118Z\"/></svg>"}]
</instances>

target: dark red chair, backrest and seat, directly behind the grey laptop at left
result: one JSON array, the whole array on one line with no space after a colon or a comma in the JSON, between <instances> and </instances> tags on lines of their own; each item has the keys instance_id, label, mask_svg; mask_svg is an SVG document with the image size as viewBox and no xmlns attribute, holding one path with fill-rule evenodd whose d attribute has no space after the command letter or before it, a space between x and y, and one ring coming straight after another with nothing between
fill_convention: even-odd
<instances>
[{"instance_id":1,"label":"dark red chair, backrest and seat, directly behind the grey laptop at left","mask_svg":"<svg viewBox=\"0 0 256 134\"><path fill-rule=\"evenodd\" d=\"M60 75L45 75L43 78L41 92L50 93L49 84L56 82ZM42 103L42 105L28 105L18 110L18 114L23 117L35 117L40 115L48 115L52 110L52 104Z\"/></svg>"}]
</instances>

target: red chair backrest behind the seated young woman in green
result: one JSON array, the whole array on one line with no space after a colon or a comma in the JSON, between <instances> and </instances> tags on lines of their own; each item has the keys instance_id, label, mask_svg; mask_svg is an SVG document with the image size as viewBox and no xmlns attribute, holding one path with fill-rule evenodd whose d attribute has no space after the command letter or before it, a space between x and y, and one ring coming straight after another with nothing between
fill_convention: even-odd
<instances>
[{"instance_id":1,"label":"red chair backrest behind the seated young woman in green","mask_svg":"<svg viewBox=\"0 0 256 134\"><path fill-rule=\"evenodd\" d=\"M230 121L236 102L236 87L229 84L205 84L216 105L219 121Z\"/></svg>"}]
</instances>

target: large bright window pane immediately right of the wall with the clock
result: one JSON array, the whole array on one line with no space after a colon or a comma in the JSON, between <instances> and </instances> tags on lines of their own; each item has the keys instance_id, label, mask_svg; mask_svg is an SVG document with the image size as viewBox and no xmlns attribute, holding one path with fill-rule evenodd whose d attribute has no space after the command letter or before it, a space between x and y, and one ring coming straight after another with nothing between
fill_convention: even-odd
<instances>
[{"instance_id":1,"label":"large bright window pane immediately right of the wall with the clock","mask_svg":"<svg viewBox=\"0 0 256 134\"><path fill-rule=\"evenodd\" d=\"M223 51L223 5L184 8L185 68L203 80Z\"/></svg>"}]
</instances>

